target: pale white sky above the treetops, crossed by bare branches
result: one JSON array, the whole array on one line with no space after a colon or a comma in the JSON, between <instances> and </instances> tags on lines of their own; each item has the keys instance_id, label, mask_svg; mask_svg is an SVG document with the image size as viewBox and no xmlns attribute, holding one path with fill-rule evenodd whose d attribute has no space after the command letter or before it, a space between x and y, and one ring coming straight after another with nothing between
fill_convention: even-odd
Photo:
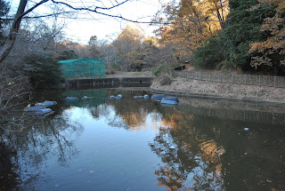
<instances>
[{"instance_id":1,"label":"pale white sky above the treetops, crossed by bare branches","mask_svg":"<svg viewBox=\"0 0 285 191\"><path fill-rule=\"evenodd\" d=\"M63 0L69 4L99 4L99 6L109 6L112 0L102 0L104 4L98 3L96 0ZM118 0L122 2L123 0ZM12 0L12 9L16 10L20 0ZM38 1L37 1L38 2ZM113 1L115 2L115 1ZM45 4L47 6L48 4ZM36 12L45 12L47 10L44 5L38 7ZM129 20L151 21L152 16L158 11L160 5L159 0L132 0L112 9L110 14L120 14ZM106 36L112 36L112 39L126 27L127 22L118 20L96 13L85 13L77 15L78 18L86 18L86 20L65 20L67 28L64 29L66 37L74 42L86 44L90 36L97 36L98 39L107 39ZM145 36L153 36L151 33L154 30L149 24L139 24ZM109 39L110 40L110 39Z\"/></svg>"}]
</instances>

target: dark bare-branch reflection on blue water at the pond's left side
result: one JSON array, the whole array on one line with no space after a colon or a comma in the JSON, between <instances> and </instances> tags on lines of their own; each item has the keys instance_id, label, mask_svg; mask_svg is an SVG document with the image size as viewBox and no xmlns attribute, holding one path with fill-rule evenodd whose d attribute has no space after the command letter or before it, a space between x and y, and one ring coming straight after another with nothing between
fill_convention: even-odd
<instances>
[{"instance_id":1,"label":"dark bare-branch reflection on blue water at the pond's left side","mask_svg":"<svg viewBox=\"0 0 285 191\"><path fill-rule=\"evenodd\" d=\"M0 185L5 185L0 190L31 190L39 179L46 179L41 176L45 174L42 165L51 155L57 156L61 166L77 155L73 135L83 130L60 116L40 119L21 111L14 115L22 122L6 125L0 137L0 167L4 167L0 168Z\"/></svg>"}]
</instances>

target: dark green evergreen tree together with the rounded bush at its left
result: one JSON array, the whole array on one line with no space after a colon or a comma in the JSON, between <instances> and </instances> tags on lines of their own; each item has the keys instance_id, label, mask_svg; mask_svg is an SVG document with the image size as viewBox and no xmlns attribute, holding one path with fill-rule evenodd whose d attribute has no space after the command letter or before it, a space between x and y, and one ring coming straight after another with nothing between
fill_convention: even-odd
<instances>
[{"instance_id":1,"label":"dark green evergreen tree together with the rounded bush at its left","mask_svg":"<svg viewBox=\"0 0 285 191\"><path fill-rule=\"evenodd\" d=\"M260 32L265 17L264 10L251 9L256 4L256 0L229 1L230 13L224 30L208 39L196 51L197 65L202 68L221 68L221 65L226 64L244 71L254 69L250 65L249 45L265 39L265 33Z\"/></svg>"}]
</instances>

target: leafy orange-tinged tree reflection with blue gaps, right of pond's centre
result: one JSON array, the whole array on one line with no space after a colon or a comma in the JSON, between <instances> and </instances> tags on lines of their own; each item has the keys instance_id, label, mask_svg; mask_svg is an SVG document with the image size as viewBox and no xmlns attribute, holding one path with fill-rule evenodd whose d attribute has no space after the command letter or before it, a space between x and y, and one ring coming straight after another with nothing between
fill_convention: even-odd
<instances>
[{"instance_id":1,"label":"leafy orange-tinged tree reflection with blue gaps, right of pond's centre","mask_svg":"<svg viewBox=\"0 0 285 191\"><path fill-rule=\"evenodd\" d=\"M166 127L159 129L151 150L163 164L155 173L167 190L222 190L221 155L224 148L192 127L192 115L173 108L165 114Z\"/></svg>"}]
</instances>

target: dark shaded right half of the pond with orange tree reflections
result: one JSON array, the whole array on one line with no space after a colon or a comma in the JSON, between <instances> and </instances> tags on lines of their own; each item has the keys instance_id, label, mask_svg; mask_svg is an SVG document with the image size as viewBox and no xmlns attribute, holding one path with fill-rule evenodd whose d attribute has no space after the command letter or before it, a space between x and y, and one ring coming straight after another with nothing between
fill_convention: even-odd
<instances>
[{"instance_id":1,"label":"dark shaded right half of the pond with orange tree reflections","mask_svg":"<svg viewBox=\"0 0 285 191\"><path fill-rule=\"evenodd\" d=\"M195 101L197 104L197 101L207 100ZM213 105L213 100L207 104ZM224 107L237 108L236 104L232 102ZM285 178L285 124L268 117L276 113L283 116L279 106L273 113L268 109L265 112L262 108L259 108L261 111L248 108L249 114L260 116L259 121L253 121L254 117L237 120L228 114L229 110L213 106L207 110L182 104L167 109L159 111L167 128L162 128L150 143L151 150L163 162L156 171L160 185L171 190L182 187L282 190L285 187L282 182ZM260 115L263 112L266 115Z\"/></svg>"}]
</instances>

